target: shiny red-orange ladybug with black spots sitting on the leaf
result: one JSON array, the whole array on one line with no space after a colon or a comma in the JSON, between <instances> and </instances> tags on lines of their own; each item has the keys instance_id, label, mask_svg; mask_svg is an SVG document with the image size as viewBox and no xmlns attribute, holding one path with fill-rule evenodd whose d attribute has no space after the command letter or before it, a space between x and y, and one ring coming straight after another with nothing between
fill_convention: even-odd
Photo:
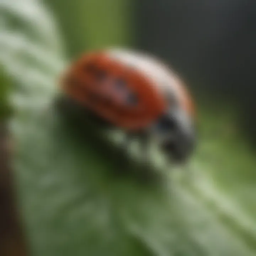
<instances>
[{"instance_id":1,"label":"shiny red-orange ladybug with black spots sitting on the leaf","mask_svg":"<svg viewBox=\"0 0 256 256\"><path fill-rule=\"evenodd\" d=\"M176 162L195 145L195 109L180 77L149 54L124 49L84 54L64 74L64 94L95 117L121 128L127 142L150 137Z\"/></svg>"}]
</instances>

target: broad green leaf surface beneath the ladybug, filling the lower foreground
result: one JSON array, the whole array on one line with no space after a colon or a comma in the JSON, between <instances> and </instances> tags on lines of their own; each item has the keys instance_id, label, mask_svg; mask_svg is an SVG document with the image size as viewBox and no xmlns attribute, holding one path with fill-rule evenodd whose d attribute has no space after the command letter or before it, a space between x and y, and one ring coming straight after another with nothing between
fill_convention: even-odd
<instances>
[{"instance_id":1,"label":"broad green leaf surface beneath the ladybug, filling the lower foreground","mask_svg":"<svg viewBox=\"0 0 256 256\"><path fill-rule=\"evenodd\" d=\"M253 255L193 183L114 175L122 169L110 148L73 122L53 109L18 121L16 170L36 255Z\"/></svg>"}]
</instances>

